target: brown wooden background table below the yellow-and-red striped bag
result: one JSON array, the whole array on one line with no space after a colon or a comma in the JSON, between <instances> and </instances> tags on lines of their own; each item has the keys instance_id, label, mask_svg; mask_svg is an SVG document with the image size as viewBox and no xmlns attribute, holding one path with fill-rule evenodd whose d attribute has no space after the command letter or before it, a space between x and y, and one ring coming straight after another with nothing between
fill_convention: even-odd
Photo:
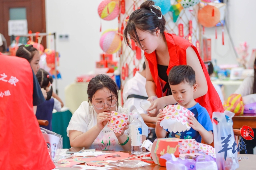
<instances>
[{"instance_id":1,"label":"brown wooden background table below the yellow-and-red striped bag","mask_svg":"<svg viewBox=\"0 0 256 170\"><path fill-rule=\"evenodd\" d=\"M256 128L256 114L244 114L242 116L233 117L233 129L240 129L244 125ZM145 122L148 127L156 128L156 123Z\"/></svg>"}]
</instances>

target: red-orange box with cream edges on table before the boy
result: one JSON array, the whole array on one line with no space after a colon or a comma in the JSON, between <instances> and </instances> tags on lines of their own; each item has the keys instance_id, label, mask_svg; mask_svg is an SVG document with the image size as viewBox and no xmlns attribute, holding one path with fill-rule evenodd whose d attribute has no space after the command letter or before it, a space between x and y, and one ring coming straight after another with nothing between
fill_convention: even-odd
<instances>
[{"instance_id":1,"label":"red-orange box with cream edges on table before the boy","mask_svg":"<svg viewBox=\"0 0 256 170\"><path fill-rule=\"evenodd\" d=\"M163 138L163 139L156 139L153 142L152 148L151 148L151 157L154 160L155 164L158 164L160 166L166 166L166 160L160 158L160 156L163 156L165 153L173 153L175 157L179 157L179 142L182 140L178 138Z\"/></svg>"}]
</instances>

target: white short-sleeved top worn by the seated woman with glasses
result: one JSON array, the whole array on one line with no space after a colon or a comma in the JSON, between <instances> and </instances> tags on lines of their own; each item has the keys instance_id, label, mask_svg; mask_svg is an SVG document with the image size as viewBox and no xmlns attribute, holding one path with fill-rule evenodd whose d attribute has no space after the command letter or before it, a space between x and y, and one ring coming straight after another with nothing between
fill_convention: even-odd
<instances>
[{"instance_id":1,"label":"white short-sleeved top worn by the seated woman with glasses","mask_svg":"<svg viewBox=\"0 0 256 170\"><path fill-rule=\"evenodd\" d=\"M129 106L129 108L132 108ZM118 107L117 112L127 114L128 120L132 122L132 116L129 115L130 112L134 113L136 110L131 110L127 108ZM128 113L129 112L129 113ZM142 117L139 115L139 120L142 124L142 135L148 136L148 126L144 123ZM80 132L87 132L93 126L97 124L97 113L94 108L89 105L87 101L82 102L79 108L73 114L67 128L67 136L69 137L69 130L77 130ZM130 137L130 127L125 130L125 135ZM108 124L102 129L98 137L94 140L89 149L96 150L108 150L108 151L123 151L121 145L118 144L118 140L113 131L108 127Z\"/></svg>"}]
</instances>

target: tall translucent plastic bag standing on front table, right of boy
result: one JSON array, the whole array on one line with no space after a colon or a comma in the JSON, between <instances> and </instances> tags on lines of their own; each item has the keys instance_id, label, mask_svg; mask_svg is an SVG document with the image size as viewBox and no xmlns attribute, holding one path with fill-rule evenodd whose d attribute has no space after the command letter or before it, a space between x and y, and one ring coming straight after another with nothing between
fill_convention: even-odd
<instances>
[{"instance_id":1,"label":"tall translucent plastic bag standing on front table, right of boy","mask_svg":"<svg viewBox=\"0 0 256 170\"><path fill-rule=\"evenodd\" d=\"M224 113L213 112L212 114L214 148L218 170L235 170L239 167L237 159L232 159L232 157L237 157L237 152L233 153L232 148L235 142L232 122L234 115L229 111Z\"/></svg>"}]
</instances>

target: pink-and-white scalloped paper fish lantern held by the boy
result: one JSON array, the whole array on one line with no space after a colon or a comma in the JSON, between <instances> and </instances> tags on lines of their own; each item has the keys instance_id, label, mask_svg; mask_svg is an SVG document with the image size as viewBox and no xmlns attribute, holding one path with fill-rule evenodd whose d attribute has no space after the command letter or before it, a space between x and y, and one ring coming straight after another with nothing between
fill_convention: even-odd
<instances>
[{"instance_id":1,"label":"pink-and-white scalloped paper fish lantern held by the boy","mask_svg":"<svg viewBox=\"0 0 256 170\"><path fill-rule=\"evenodd\" d=\"M194 114L180 105L168 105L163 109L164 120L160 122L160 126L168 129L169 132L184 132L191 127L188 125L187 116Z\"/></svg>"}]
</instances>

